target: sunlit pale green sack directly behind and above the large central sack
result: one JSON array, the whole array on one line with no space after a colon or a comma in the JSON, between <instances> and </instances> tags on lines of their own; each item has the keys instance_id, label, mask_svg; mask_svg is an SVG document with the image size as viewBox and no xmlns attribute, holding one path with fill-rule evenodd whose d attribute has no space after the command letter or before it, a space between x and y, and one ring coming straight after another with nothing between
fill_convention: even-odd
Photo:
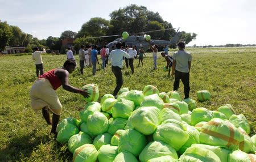
<instances>
[{"instance_id":1,"label":"sunlit pale green sack directly behind and above the large central sack","mask_svg":"<svg viewBox=\"0 0 256 162\"><path fill-rule=\"evenodd\" d=\"M153 94L144 97L141 106L156 106L156 108L162 110L163 104L163 100L158 96L158 94Z\"/></svg>"}]
</instances>

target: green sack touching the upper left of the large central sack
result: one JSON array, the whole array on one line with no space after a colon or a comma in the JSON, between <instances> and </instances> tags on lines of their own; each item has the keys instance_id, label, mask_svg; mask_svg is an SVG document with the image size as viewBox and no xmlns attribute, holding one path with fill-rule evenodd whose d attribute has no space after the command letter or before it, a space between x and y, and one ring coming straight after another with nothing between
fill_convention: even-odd
<instances>
[{"instance_id":1,"label":"green sack touching the upper left of the large central sack","mask_svg":"<svg viewBox=\"0 0 256 162\"><path fill-rule=\"evenodd\" d=\"M131 116L135 106L133 101L118 99L113 105L112 116L113 118L124 118L128 119Z\"/></svg>"}]
</instances>

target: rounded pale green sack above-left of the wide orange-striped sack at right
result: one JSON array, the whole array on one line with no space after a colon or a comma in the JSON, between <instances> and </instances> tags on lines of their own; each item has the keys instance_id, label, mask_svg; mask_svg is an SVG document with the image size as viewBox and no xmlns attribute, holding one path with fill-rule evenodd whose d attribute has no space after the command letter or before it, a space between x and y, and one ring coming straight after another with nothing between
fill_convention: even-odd
<instances>
[{"instance_id":1,"label":"rounded pale green sack above-left of the wide orange-striped sack at right","mask_svg":"<svg viewBox=\"0 0 256 162\"><path fill-rule=\"evenodd\" d=\"M210 121L212 118L212 113L208 109L196 108L191 113L191 125L195 126L201 121Z\"/></svg>"}]
</instances>

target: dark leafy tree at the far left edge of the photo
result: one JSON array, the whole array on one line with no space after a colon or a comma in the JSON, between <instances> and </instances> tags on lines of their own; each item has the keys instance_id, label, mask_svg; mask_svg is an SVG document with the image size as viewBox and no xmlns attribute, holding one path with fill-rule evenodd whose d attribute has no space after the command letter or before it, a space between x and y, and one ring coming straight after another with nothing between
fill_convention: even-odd
<instances>
[{"instance_id":1,"label":"dark leafy tree at the far left edge of the photo","mask_svg":"<svg viewBox=\"0 0 256 162\"><path fill-rule=\"evenodd\" d=\"M5 50L5 46L9 45L11 35L12 33L9 25L0 20L0 50Z\"/></svg>"}]
</instances>

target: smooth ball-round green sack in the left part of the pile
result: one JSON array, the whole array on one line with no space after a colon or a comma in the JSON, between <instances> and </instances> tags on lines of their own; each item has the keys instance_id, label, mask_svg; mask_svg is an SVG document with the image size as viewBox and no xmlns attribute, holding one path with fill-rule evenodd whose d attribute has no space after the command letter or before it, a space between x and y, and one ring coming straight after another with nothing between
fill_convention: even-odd
<instances>
[{"instance_id":1,"label":"smooth ball-round green sack in the left part of the pile","mask_svg":"<svg viewBox=\"0 0 256 162\"><path fill-rule=\"evenodd\" d=\"M104 114L95 112L87 119L88 131L93 135L105 133L109 129L109 120Z\"/></svg>"}]
</instances>

